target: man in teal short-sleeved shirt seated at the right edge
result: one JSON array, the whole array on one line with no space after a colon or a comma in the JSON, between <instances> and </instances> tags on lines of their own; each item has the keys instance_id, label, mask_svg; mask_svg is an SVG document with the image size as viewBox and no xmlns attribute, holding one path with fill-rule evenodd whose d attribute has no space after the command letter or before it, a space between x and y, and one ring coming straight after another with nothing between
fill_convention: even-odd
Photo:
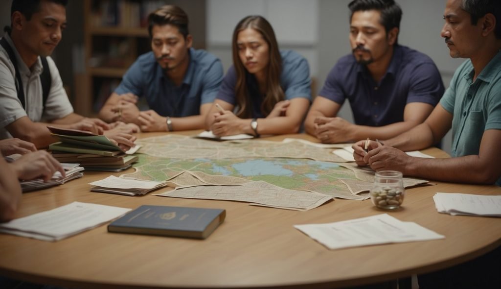
<instances>
[{"instance_id":1,"label":"man in teal short-sleeved shirt seated at the right edge","mask_svg":"<svg viewBox=\"0 0 501 289\"><path fill-rule=\"evenodd\" d=\"M357 142L359 166L396 170L406 176L501 186L501 2L448 0L441 35L453 58L468 58L426 121L394 138ZM452 126L452 157L422 159L402 151L421 150Z\"/></svg>"}]
</instances>

